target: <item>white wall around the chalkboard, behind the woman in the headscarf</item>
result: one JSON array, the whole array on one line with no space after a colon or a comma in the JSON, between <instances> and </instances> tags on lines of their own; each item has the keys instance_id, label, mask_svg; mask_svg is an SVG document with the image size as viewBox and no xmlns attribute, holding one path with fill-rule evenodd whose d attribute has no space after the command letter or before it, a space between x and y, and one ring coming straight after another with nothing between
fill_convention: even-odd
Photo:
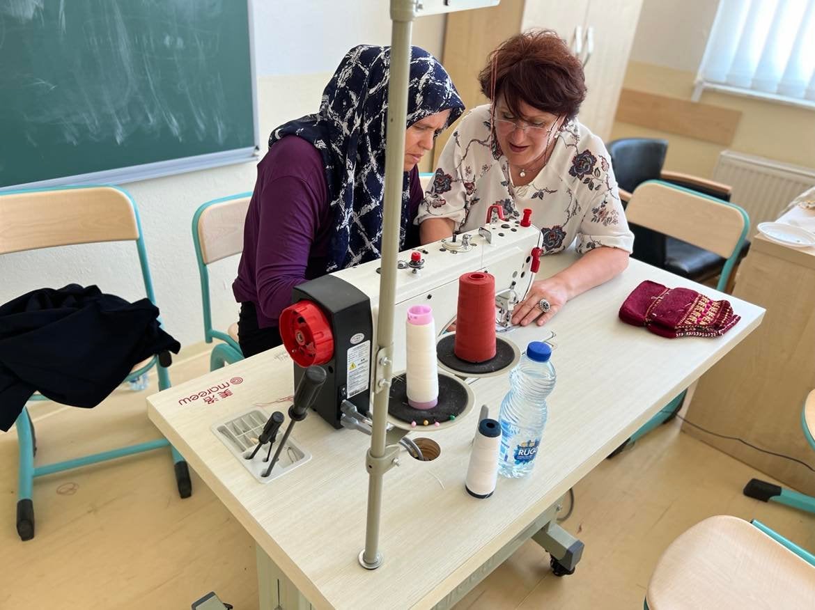
<instances>
[{"instance_id":1,"label":"white wall around the chalkboard, behind the woman in the headscarf","mask_svg":"<svg viewBox=\"0 0 815 610\"><path fill-rule=\"evenodd\" d=\"M381 0L254 0L255 53L262 148L276 125L319 108L323 87L342 55L363 42L390 40L388 2ZM368 13L359 11L361 4ZM440 56L443 17L414 26L414 44ZM205 201L254 186L253 163L123 185L139 206L144 239L165 327L183 345L203 340L200 285L192 247L192 214ZM237 319L231 293L237 257L210 269L213 322ZM0 257L0 303L37 287L96 283L103 292L143 296L133 244L101 244L18 252Z\"/></svg>"}]
</instances>

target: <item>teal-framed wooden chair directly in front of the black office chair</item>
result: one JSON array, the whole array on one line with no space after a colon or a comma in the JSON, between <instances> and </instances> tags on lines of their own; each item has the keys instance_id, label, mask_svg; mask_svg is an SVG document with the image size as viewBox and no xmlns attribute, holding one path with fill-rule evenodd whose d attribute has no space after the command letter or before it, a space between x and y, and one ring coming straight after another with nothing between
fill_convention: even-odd
<instances>
[{"instance_id":1,"label":"teal-framed wooden chair directly in front of the black office chair","mask_svg":"<svg viewBox=\"0 0 815 610\"><path fill-rule=\"evenodd\" d=\"M628 222L671 235L725 258L725 266L716 284L716 290L719 291L724 291L727 286L742 250L747 227L750 226L747 213L738 205L659 180L643 182L634 190L625 216ZM609 458L613 458L654 428L673 419L684 400L685 391L682 391L610 454Z\"/></svg>"}]
</instances>

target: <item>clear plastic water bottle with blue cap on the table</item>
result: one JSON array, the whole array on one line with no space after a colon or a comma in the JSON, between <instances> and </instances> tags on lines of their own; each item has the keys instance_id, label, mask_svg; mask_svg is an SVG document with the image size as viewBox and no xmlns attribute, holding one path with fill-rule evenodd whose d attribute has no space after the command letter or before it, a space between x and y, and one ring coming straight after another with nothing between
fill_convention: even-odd
<instances>
[{"instance_id":1,"label":"clear plastic water bottle with blue cap on the table","mask_svg":"<svg viewBox=\"0 0 815 610\"><path fill-rule=\"evenodd\" d=\"M533 341L521 362L509 373L509 392L501 403L501 449L498 472L518 478L535 467L540 438L546 425L546 397L555 387L552 348Z\"/></svg>"}]
</instances>

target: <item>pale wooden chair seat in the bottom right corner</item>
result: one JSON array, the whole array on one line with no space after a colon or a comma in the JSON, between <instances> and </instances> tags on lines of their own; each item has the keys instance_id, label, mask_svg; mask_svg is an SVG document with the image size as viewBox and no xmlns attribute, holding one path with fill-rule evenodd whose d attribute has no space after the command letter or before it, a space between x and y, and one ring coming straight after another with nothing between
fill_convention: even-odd
<instances>
[{"instance_id":1,"label":"pale wooden chair seat in the bottom right corner","mask_svg":"<svg viewBox=\"0 0 815 610\"><path fill-rule=\"evenodd\" d=\"M650 610L813 608L815 567L747 521L715 516L667 547L645 599Z\"/></svg>"}]
</instances>

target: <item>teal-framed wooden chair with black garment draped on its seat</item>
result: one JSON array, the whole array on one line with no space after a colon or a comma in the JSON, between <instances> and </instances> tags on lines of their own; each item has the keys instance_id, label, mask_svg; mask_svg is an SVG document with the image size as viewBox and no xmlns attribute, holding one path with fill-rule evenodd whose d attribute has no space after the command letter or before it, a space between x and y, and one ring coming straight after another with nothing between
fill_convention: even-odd
<instances>
[{"instance_id":1,"label":"teal-framed wooden chair with black garment draped on its seat","mask_svg":"<svg viewBox=\"0 0 815 610\"><path fill-rule=\"evenodd\" d=\"M144 290L155 305L139 211L130 195L117 187L63 187L0 193L0 254L24 252L55 246L134 241L142 269ZM68 282L66 282L68 283ZM154 366L160 389L170 387L170 354L139 362L126 381L134 382ZM47 400L35 393L29 401ZM117 459L126 455L170 446L175 463L178 493L192 494L187 463L165 438L104 451L60 463L34 466L37 445L34 426L25 406L15 421L20 449L20 488L17 500L17 533L23 540L34 537L33 479L75 467Z\"/></svg>"}]
</instances>

